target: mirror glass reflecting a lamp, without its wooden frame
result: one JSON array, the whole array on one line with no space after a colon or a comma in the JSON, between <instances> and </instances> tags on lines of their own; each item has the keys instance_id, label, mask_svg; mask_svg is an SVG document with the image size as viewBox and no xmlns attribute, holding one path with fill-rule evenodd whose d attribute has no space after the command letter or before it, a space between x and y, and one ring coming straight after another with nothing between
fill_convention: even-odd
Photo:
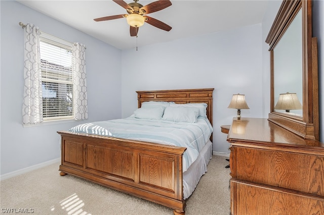
<instances>
[{"instance_id":1,"label":"mirror glass reflecting a lamp, without its wooden frame","mask_svg":"<svg viewBox=\"0 0 324 215\"><path fill-rule=\"evenodd\" d=\"M299 10L285 34L273 48L274 111L276 112L303 116L300 104L303 101L302 49L302 13ZM280 94L288 92L296 93L296 101L292 99L293 96L281 96L279 100ZM296 102L300 105L294 105Z\"/></svg>"}]
</instances>

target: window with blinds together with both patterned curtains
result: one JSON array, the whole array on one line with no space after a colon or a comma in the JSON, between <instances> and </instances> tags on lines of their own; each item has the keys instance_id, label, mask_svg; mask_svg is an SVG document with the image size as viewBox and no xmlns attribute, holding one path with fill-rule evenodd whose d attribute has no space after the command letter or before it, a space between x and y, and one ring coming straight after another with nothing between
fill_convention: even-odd
<instances>
[{"instance_id":1,"label":"window with blinds together with both patterned curtains","mask_svg":"<svg viewBox=\"0 0 324 215\"><path fill-rule=\"evenodd\" d=\"M88 119L86 46L41 32L32 24L23 29L23 125Z\"/></svg>"}]
</instances>

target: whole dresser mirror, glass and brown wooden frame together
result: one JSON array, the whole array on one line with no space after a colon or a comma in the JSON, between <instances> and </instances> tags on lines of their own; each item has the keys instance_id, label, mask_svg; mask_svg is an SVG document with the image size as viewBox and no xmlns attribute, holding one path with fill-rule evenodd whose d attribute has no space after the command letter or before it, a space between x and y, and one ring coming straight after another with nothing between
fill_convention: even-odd
<instances>
[{"instance_id":1,"label":"whole dresser mirror, glass and brown wooden frame together","mask_svg":"<svg viewBox=\"0 0 324 215\"><path fill-rule=\"evenodd\" d=\"M317 38L312 37L311 17L311 1L284 0L272 24L266 39L271 73L268 120L304 139L319 140Z\"/></svg>"}]
</instances>

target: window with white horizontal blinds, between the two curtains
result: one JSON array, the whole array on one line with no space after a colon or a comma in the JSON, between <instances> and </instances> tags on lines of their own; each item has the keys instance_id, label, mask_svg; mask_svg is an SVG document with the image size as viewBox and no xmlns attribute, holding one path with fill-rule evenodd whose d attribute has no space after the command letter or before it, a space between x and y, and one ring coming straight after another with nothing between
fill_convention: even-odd
<instances>
[{"instance_id":1,"label":"window with white horizontal blinds, between the two curtains","mask_svg":"<svg viewBox=\"0 0 324 215\"><path fill-rule=\"evenodd\" d=\"M43 120L73 119L72 43L42 32Z\"/></svg>"}]
</instances>

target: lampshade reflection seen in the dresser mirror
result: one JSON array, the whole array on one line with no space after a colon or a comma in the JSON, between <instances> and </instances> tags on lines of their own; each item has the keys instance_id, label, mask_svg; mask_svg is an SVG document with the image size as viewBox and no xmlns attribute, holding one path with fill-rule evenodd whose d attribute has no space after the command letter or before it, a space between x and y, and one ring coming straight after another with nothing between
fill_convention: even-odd
<instances>
[{"instance_id":1,"label":"lampshade reflection seen in the dresser mirror","mask_svg":"<svg viewBox=\"0 0 324 215\"><path fill-rule=\"evenodd\" d=\"M303 106L298 100L296 93L287 92L279 94L279 99L277 104L274 106L274 109L290 112L290 110L303 109Z\"/></svg>"}]
</instances>

